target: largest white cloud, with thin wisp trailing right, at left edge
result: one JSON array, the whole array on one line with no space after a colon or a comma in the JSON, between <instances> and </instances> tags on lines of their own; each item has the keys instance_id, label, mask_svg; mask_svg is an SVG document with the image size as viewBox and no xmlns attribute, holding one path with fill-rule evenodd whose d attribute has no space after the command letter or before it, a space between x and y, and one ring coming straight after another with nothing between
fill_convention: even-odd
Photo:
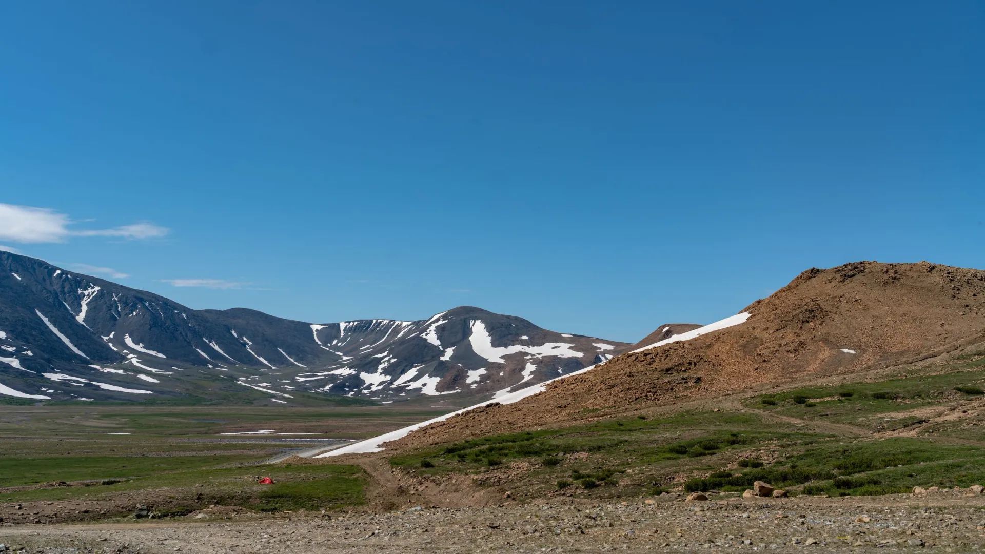
<instances>
[{"instance_id":1,"label":"largest white cloud, with thin wisp trailing right, at left edge","mask_svg":"<svg viewBox=\"0 0 985 554\"><path fill-rule=\"evenodd\" d=\"M12 242L65 242L70 237L118 237L153 239L167 235L168 229L150 223L136 223L112 229L73 230L67 214L49 208L0 203L0 240Z\"/></svg>"}]
</instances>

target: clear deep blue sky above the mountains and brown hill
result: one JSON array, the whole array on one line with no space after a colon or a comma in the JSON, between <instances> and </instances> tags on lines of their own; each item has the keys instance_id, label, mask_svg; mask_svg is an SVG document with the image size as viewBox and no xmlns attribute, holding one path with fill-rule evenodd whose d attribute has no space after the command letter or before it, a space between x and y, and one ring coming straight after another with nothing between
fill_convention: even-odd
<instances>
[{"instance_id":1,"label":"clear deep blue sky above the mountains and brown hill","mask_svg":"<svg viewBox=\"0 0 985 554\"><path fill-rule=\"evenodd\" d=\"M973 1L8 2L0 244L196 309L472 305L626 341L811 266L982 268L983 24Z\"/></svg>"}]
</instances>

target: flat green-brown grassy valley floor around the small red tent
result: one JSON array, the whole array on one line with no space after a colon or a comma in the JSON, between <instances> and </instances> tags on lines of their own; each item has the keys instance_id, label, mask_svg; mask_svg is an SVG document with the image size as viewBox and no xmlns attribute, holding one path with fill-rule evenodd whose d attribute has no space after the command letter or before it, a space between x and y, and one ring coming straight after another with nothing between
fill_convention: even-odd
<instances>
[{"instance_id":1,"label":"flat green-brown grassy valley floor around the small red tent","mask_svg":"<svg viewBox=\"0 0 985 554\"><path fill-rule=\"evenodd\" d=\"M362 502L352 465L266 465L289 449L358 440L444 413L427 407L0 406L0 501L256 510ZM285 435L223 435L271 430ZM271 476L274 486L257 485ZM53 486L64 481L67 486ZM119 514L121 515L121 514ZM95 517L95 514L94 514Z\"/></svg>"}]
</instances>

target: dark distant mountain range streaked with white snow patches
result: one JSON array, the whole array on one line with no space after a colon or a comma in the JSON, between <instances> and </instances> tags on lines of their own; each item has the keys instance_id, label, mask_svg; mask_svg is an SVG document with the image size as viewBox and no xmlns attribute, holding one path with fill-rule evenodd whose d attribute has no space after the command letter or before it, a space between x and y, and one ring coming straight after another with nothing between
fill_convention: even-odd
<instances>
[{"instance_id":1,"label":"dark distant mountain range streaked with white snow patches","mask_svg":"<svg viewBox=\"0 0 985 554\"><path fill-rule=\"evenodd\" d=\"M627 346L472 307L417 321L324 324L241 308L191 310L0 251L0 398L488 397Z\"/></svg>"}]
</instances>

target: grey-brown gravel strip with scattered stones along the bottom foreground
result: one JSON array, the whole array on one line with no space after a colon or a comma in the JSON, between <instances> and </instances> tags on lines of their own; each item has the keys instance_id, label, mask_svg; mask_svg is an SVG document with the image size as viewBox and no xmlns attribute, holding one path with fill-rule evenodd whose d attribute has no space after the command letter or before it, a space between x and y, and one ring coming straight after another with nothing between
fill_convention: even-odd
<instances>
[{"instance_id":1,"label":"grey-brown gravel strip with scattered stones along the bottom foreground","mask_svg":"<svg viewBox=\"0 0 985 554\"><path fill-rule=\"evenodd\" d=\"M414 507L335 517L209 516L88 525L5 525L27 553L888 551L978 552L985 499L945 495L658 499L614 504Z\"/></svg>"}]
</instances>

